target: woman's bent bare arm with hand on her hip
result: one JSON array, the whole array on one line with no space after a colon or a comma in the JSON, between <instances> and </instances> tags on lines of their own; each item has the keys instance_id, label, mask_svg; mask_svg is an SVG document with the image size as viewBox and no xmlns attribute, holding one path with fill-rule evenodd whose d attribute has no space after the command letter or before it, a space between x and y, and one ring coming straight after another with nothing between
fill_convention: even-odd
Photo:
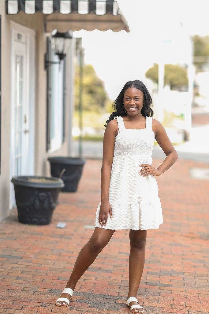
<instances>
[{"instance_id":1,"label":"woman's bent bare arm with hand on her hip","mask_svg":"<svg viewBox=\"0 0 209 314\"><path fill-rule=\"evenodd\" d=\"M168 170L178 159L178 154L173 147L170 139L168 138L165 128L157 120L153 119L153 131L155 138L159 146L164 151L166 157L161 165L157 169L151 165L141 165L143 168L139 171L140 176L147 176L153 174L154 176L160 176L166 170Z\"/></svg>"}]
</instances>

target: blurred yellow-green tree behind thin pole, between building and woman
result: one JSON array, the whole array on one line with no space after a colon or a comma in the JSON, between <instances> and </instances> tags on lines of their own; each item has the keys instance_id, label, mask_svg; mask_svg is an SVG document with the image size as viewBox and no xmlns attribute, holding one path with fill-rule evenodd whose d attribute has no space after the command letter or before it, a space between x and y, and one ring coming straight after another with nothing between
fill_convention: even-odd
<instances>
[{"instance_id":1,"label":"blurred yellow-green tree behind thin pole, between building and woman","mask_svg":"<svg viewBox=\"0 0 209 314\"><path fill-rule=\"evenodd\" d=\"M75 73L75 110L79 107L79 66L76 67ZM83 110L101 113L108 101L107 92L104 88L103 81L98 78L92 65L87 64L83 67Z\"/></svg>"}]
</instances>

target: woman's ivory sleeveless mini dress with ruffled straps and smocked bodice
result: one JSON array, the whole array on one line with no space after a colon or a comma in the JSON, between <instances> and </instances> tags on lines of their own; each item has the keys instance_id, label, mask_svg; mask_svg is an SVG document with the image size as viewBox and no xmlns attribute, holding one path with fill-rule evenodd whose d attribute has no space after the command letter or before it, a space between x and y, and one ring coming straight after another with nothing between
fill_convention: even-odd
<instances>
[{"instance_id":1,"label":"woman's ivory sleeveless mini dress with ruffled straps and smocked bodice","mask_svg":"<svg viewBox=\"0 0 209 314\"><path fill-rule=\"evenodd\" d=\"M152 117L146 117L145 129L126 129L123 118L116 117L118 134L112 161L109 202L112 219L108 214L104 229L158 229L163 223L162 208L158 197L155 177L140 176L142 164L152 164L152 150L155 134ZM100 227L99 203L95 227Z\"/></svg>"}]
</instances>

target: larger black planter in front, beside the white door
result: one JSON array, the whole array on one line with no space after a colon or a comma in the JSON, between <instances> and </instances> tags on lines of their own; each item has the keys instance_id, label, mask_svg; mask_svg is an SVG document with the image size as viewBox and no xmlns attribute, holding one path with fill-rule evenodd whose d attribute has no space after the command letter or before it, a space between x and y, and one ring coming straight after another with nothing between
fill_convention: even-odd
<instances>
[{"instance_id":1,"label":"larger black planter in front, beside the white door","mask_svg":"<svg viewBox=\"0 0 209 314\"><path fill-rule=\"evenodd\" d=\"M64 182L59 178L16 176L12 178L18 220L29 225L48 225Z\"/></svg>"}]
</instances>

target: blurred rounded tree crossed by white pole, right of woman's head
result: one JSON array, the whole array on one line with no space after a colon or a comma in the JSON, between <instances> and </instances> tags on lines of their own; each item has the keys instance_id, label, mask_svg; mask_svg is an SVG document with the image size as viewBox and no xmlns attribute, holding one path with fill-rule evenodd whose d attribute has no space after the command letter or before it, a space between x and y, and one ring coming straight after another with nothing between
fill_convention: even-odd
<instances>
[{"instance_id":1,"label":"blurred rounded tree crossed by white pole, right of woman's head","mask_svg":"<svg viewBox=\"0 0 209 314\"><path fill-rule=\"evenodd\" d=\"M158 64L154 63L145 73L145 77L151 79L154 83L158 83ZM185 68L174 64L165 64L165 85L169 85L170 89L179 89L187 86L187 71Z\"/></svg>"}]
</instances>

